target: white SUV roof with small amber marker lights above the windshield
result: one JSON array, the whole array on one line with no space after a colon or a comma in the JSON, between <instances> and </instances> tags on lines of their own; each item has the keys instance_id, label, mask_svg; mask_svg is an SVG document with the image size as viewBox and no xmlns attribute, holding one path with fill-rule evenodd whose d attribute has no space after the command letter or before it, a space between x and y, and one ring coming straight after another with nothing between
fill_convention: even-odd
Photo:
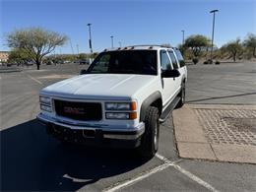
<instances>
[{"instance_id":1,"label":"white SUV roof with small amber marker lights above the windshield","mask_svg":"<svg viewBox=\"0 0 256 192\"><path fill-rule=\"evenodd\" d=\"M140 44L140 45L130 45L125 47L117 47L117 48L106 48L104 51L116 51L116 50L159 50L161 48L172 48L177 49L176 47L169 47L158 44Z\"/></svg>"}]
</instances>

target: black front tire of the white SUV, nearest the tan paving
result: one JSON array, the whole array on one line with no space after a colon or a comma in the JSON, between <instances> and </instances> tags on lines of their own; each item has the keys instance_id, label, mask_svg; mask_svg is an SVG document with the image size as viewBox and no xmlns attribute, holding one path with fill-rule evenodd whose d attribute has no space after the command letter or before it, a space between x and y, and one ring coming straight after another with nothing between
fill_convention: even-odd
<instances>
[{"instance_id":1,"label":"black front tire of the white SUV, nearest the tan paving","mask_svg":"<svg viewBox=\"0 0 256 192\"><path fill-rule=\"evenodd\" d=\"M151 159L159 150L160 112L155 106L150 106L145 116L145 133L138 148L141 157Z\"/></svg>"}]
</instances>

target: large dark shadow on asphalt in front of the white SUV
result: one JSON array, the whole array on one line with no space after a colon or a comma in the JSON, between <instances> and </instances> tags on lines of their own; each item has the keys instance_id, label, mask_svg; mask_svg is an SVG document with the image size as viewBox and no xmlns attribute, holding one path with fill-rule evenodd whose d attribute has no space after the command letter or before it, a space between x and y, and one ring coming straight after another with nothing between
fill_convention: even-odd
<instances>
[{"instance_id":1,"label":"large dark shadow on asphalt in front of the white SUV","mask_svg":"<svg viewBox=\"0 0 256 192\"><path fill-rule=\"evenodd\" d=\"M1 131L1 191L75 191L146 161L129 150L63 147L35 119Z\"/></svg>"}]
</instances>

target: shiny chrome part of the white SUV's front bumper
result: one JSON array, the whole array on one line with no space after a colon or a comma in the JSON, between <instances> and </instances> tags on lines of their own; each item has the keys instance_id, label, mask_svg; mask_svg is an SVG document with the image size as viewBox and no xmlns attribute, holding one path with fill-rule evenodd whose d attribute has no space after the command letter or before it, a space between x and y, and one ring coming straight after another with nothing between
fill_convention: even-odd
<instances>
[{"instance_id":1,"label":"shiny chrome part of the white SUV's front bumper","mask_svg":"<svg viewBox=\"0 0 256 192\"><path fill-rule=\"evenodd\" d=\"M57 118L53 118L42 113L39 113L36 116L37 120L39 120L44 125L57 125L65 128L69 128L72 130L94 130L101 131L102 137L105 139L117 139L117 140L136 140L140 138L145 131L145 124L141 122L138 126L133 128L125 128L125 129L116 129L109 127L100 127L100 126L90 126L89 124L67 124L63 121L60 121Z\"/></svg>"}]
</instances>

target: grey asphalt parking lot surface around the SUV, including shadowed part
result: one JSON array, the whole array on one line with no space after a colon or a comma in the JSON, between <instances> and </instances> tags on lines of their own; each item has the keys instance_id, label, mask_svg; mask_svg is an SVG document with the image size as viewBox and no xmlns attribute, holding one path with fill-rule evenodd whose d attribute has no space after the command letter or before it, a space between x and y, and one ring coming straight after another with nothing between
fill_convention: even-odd
<instances>
[{"instance_id":1,"label":"grey asphalt parking lot surface around the SUV, including shadowed part","mask_svg":"<svg viewBox=\"0 0 256 192\"><path fill-rule=\"evenodd\" d=\"M177 155L170 117L160 126L152 160L133 151L70 146L35 120L38 92L84 65L42 66L0 74L1 190L13 191L255 191L256 166ZM256 104L256 64L188 67L188 103Z\"/></svg>"}]
</instances>

